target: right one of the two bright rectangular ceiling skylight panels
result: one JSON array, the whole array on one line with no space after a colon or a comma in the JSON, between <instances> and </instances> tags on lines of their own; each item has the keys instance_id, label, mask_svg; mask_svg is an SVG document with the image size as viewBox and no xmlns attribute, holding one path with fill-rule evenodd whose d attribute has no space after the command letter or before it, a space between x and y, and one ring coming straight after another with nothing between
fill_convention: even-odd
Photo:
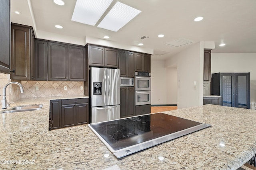
<instances>
[{"instance_id":1,"label":"right one of the two bright rectangular ceiling skylight panels","mask_svg":"<svg viewBox=\"0 0 256 170\"><path fill-rule=\"evenodd\" d=\"M140 10L132 8L126 4L116 2L110 12L108 12L105 18L100 22L98 27L116 32L140 14L140 12Z\"/></svg>"}]
</instances>

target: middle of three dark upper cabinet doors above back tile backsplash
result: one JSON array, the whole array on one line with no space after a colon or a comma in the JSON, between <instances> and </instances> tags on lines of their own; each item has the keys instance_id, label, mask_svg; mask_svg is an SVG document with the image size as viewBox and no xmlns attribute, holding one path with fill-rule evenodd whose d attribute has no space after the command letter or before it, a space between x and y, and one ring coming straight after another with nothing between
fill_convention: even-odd
<instances>
[{"instance_id":1,"label":"middle of three dark upper cabinet doors above back tile backsplash","mask_svg":"<svg viewBox=\"0 0 256 170\"><path fill-rule=\"evenodd\" d=\"M48 80L68 80L68 45L48 42Z\"/></svg>"}]
</instances>

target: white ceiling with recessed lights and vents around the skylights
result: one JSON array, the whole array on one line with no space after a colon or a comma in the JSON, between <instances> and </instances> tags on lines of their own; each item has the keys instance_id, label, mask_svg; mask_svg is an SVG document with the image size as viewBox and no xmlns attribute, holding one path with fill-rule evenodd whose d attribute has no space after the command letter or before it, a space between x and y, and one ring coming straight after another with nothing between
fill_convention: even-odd
<instances>
[{"instance_id":1,"label":"white ceiling with recessed lights and vents around the skylights","mask_svg":"<svg viewBox=\"0 0 256 170\"><path fill-rule=\"evenodd\" d=\"M11 21L33 26L35 32L68 36L70 42L108 35L108 41L132 46L143 43L144 48L168 52L153 54L152 60L167 59L199 41L215 41L212 53L256 53L256 0L118 0L142 12L117 32L71 21L76 0L63 1L64 6L53 0L11 0ZM204 20L195 22L198 16ZM158 38L160 33L165 36ZM140 39L142 36L149 38ZM193 43L180 47L165 44L179 38ZM219 47L222 41L226 46Z\"/></svg>"}]
</instances>

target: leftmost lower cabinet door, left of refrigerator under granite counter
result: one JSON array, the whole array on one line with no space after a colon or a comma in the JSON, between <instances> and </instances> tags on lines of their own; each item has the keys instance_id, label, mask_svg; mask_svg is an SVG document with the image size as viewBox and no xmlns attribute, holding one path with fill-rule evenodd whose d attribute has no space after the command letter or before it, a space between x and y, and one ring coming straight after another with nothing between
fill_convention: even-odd
<instances>
[{"instance_id":1,"label":"leftmost lower cabinet door, left of refrigerator under granite counter","mask_svg":"<svg viewBox=\"0 0 256 170\"><path fill-rule=\"evenodd\" d=\"M50 101L50 130L62 127L61 100Z\"/></svg>"}]
</instances>

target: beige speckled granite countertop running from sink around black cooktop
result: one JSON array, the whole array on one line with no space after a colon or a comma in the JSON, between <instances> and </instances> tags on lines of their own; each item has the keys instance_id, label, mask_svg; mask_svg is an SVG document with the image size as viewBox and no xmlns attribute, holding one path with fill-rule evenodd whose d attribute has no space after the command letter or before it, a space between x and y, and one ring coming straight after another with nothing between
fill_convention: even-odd
<instances>
[{"instance_id":1,"label":"beige speckled granite countertop running from sink around black cooktop","mask_svg":"<svg viewBox=\"0 0 256 170\"><path fill-rule=\"evenodd\" d=\"M118 160L88 125L48 131L49 100L22 101L44 104L40 111L0 115L1 163L20 160L0 169L237 169L256 153L255 110L204 105L166 111L212 127Z\"/></svg>"}]
</instances>

